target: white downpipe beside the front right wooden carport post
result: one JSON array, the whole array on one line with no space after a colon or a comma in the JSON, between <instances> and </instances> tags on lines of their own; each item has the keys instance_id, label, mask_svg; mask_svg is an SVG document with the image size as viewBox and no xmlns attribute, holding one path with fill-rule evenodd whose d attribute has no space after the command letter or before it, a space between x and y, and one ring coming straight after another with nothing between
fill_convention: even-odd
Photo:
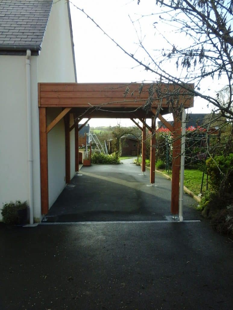
<instances>
[{"instance_id":1,"label":"white downpipe beside the front right wooden carport post","mask_svg":"<svg viewBox=\"0 0 233 310\"><path fill-rule=\"evenodd\" d=\"M183 222L183 201L184 201L184 171L185 171L185 109L182 111L181 119L181 158L180 158L180 198L179 198L179 220Z\"/></svg>"}]
</instances>

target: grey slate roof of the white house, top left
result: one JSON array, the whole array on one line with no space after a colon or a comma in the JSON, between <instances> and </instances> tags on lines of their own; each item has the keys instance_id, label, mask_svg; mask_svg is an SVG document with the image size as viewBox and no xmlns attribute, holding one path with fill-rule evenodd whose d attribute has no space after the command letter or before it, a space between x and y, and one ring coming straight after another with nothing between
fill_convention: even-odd
<instances>
[{"instance_id":1,"label":"grey slate roof of the white house, top left","mask_svg":"<svg viewBox=\"0 0 233 310\"><path fill-rule=\"evenodd\" d=\"M53 0L1 0L0 50L39 51Z\"/></svg>"}]
</instances>

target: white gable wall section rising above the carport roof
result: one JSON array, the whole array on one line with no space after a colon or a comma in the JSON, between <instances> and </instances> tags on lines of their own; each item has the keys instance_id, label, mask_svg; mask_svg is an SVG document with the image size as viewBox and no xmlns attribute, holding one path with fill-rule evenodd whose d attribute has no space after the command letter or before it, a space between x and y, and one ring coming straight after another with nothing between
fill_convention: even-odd
<instances>
[{"instance_id":1,"label":"white gable wall section rising above the carport roof","mask_svg":"<svg viewBox=\"0 0 233 310\"><path fill-rule=\"evenodd\" d=\"M38 59L38 82L75 82L66 1L53 3Z\"/></svg>"}]
</instances>

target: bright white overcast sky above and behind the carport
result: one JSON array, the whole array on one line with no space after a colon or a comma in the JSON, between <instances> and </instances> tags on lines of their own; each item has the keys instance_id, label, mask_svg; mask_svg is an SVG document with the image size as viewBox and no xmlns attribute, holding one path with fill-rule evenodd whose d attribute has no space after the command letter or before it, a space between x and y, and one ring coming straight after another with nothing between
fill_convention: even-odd
<instances>
[{"instance_id":1,"label":"bright white overcast sky above and behind the carport","mask_svg":"<svg viewBox=\"0 0 233 310\"><path fill-rule=\"evenodd\" d=\"M71 0L71 2L84 9L101 28L127 51L130 53L137 52L138 57L140 57L140 51L137 45L137 35L144 38L146 34L144 43L148 48L153 49L160 44L160 42L154 42L153 22L158 18L157 15L140 20L140 27L138 23L133 25L131 22L140 15L158 13L155 0L143 0L140 5L137 5L137 0ZM145 71L128 55L124 54L90 19L73 7L72 3L70 6L78 82L128 83L157 79L154 74ZM138 33L135 31L135 27ZM166 25L164 25L163 31L166 35L171 35ZM144 57L143 54L141 55ZM206 104L203 105L200 100L196 99L194 100L194 108L190 109L189 112L209 113L210 110ZM117 121L119 122L119 119L92 119L89 124L90 126L115 126ZM133 122L130 120L121 120L121 126L132 125Z\"/></svg>"}]
</instances>

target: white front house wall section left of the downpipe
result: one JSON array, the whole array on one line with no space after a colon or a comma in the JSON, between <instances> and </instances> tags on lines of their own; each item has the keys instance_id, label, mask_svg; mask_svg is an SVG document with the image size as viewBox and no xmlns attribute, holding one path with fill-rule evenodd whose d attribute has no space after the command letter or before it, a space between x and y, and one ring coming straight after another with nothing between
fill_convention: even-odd
<instances>
[{"instance_id":1,"label":"white front house wall section left of the downpipe","mask_svg":"<svg viewBox=\"0 0 233 310\"><path fill-rule=\"evenodd\" d=\"M1 55L0 68L2 208L2 203L28 199L25 56Z\"/></svg>"}]
</instances>

